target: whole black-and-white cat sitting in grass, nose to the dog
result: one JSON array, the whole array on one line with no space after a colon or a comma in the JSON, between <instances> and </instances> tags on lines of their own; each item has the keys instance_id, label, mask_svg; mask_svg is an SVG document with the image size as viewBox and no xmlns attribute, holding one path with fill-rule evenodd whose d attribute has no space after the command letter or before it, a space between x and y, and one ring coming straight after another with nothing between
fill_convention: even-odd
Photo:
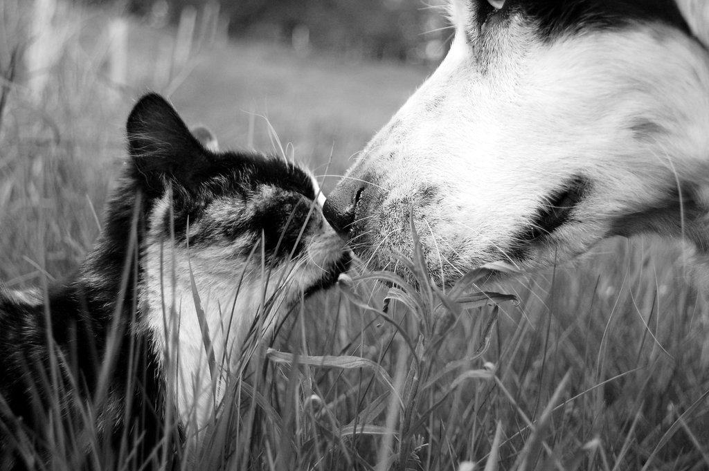
<instances>
[{"instance_id":1,"label":"whole black-and-white cat sitting in grass, nose to the dog","mask_svg":"<svg viewBox=\"0 0 709 471\"><path fill-rule=\"evenodd\" d=\"M141 98L77 274L46 296L0 291L0 469L35 469L57 436L86 455L96 443L132 453L136 469L165 443L194 442L255 338L345 270L308 171L195 133L203 144L164 98Z\"/></svg>"}]
</instances>

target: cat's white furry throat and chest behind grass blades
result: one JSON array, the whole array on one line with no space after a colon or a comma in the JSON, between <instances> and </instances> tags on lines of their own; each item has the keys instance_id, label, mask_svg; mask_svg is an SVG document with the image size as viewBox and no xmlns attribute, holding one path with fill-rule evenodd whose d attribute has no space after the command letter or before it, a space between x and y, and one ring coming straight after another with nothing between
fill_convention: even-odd
<instances>
[{"instance_id":1,"label":"cat's white furry throat and chest behind grass blades","mask_svg":"<svg viewBox=\"0 0 709 471\"><path fill-rule=\"evenodd\" d=\"M215 416L230 380L238 377L255 339L274 327L273 290L218 248L186 249L148 234L140 305L142 329L154 339L186 433ZM276 282L273 283L276 285ZM266 293L264 293L266 289Z\"/></svg>"}]
</instances>

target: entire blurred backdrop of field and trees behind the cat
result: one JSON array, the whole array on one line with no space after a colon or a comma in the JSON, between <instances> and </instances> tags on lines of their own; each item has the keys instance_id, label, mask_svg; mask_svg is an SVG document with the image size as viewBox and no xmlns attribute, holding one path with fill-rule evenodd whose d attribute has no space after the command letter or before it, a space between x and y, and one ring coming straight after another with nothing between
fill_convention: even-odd
<instances>
[{"instance_id":1,"label":"entire blurred backdrop of field and trees behind the cat","mask_svg":"<svg viewBox=\"0 0 709 471\"><path fill-rule=\"evenodd\" d=\"M83 259L146 91L222 147L307 164L329 191L445 55L442 4L2 0L0 278Z\"/></svg>"}]
</instances>

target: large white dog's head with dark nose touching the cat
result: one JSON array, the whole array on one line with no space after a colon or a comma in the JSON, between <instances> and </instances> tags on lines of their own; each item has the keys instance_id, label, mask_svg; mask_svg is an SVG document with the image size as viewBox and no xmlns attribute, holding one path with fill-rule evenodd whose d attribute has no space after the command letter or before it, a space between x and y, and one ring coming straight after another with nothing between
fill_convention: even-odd
<instances>
[{"instance_id":1,"label":"large white dog's head with dark nose touching the cat","mask_svg":"<svg viewBox=\"0 0 709 471\"><path fill-rule=\"evenodd\" d=\"M439 283L525 270L645 230L700 242L709 206L707 7L672 0L452 0L440 67L368 144L325 215L379 268ZM684 221L684 222L683 222Z\"/></svg>"}]
</instances>

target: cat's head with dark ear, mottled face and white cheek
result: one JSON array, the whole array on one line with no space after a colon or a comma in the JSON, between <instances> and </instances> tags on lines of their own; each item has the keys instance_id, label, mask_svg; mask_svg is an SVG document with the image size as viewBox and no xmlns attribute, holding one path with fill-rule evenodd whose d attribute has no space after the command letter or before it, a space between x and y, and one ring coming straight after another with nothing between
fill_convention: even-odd
<instances>
[{"instance_id":1,"label":"cat's head with dark ear, mottled face and white cheek","mask_svg":"<svg viewBox=\"0 0 709 471\"><path fill-rule=\"evenodd\" d=\"M126 180L146 212L143 259L161 278L149 290L168 280L189 285L193 276L201 297L227 302L241 292L255 306L257 299L290 302L333 284L345 269L347 249L305 169L203 145L206 138L154 93L135 105L127 133Z\"/></svg>"}]
</instances>

